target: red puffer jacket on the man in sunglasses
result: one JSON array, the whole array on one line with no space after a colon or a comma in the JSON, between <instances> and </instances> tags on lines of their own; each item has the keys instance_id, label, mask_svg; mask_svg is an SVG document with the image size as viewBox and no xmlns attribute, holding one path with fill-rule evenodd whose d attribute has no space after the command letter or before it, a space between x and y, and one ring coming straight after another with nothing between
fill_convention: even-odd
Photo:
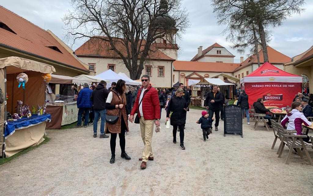
<instances>
[{"instance_id":1,"label":"red puffer jacket on the man in sunglasses","mask_svg":"<svg viewBox=\"0 0 313 196\"><path fill-rule=\"evenodd\" d=\"M138 91L136 101L134 103L133 109L131 110L131 115L135 115L138 111L139 97L140 97L142 89L143 87L141 87ZM144 97L143 97L141 104L142 104L143 118L145 120L160 119L159 96L158 96L156 89L151 87L151 84L148 87L148 89L144 92Z\"/></svg>"}]
</instances>

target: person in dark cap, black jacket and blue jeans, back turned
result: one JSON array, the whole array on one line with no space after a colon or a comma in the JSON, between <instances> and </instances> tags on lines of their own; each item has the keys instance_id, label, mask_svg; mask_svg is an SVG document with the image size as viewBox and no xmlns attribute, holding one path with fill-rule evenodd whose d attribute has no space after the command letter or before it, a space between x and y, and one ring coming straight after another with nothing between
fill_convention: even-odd
<instances>
[{"instance_id":1,"label":"person in dark cap, black jacket and blue jeans, back turned","mask_svg":"<svg viewBox=\"0 0 313 196\"><path fill-rule=\"evenodd\" d=\"M94 118L94 137L97 137L97 129L98 129L98 120L99 117L101 118L100 124L100 138L108 138L108 135L104 133L105 127L105 116L106 116L106 109L105 109L105 102L109 95L110 91L106 89L106 82L101 80L95 90L92 91L92 95L90 97L95 112Z\"/></svg>"}]
</instances>

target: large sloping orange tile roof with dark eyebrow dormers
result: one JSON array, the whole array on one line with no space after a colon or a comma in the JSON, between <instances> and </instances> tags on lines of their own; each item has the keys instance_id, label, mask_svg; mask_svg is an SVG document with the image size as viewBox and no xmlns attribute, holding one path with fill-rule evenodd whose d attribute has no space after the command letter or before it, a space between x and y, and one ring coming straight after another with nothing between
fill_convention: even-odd
<instances>
[{"instance_id":1,"label":"large sloping orange tile roof with dark eyebrow dormers","mask_svg":"<svg viewBox=\"0 0 313 196\"><path fill-rule=\"evenodd\" d=\"M88 69L51 34L2 6L0 6L0 22L15 32L14 34L0 28L0 45L88 72ZM49 46L57 47L62 53L49 48Z\"/></svg>"}]
</instances>

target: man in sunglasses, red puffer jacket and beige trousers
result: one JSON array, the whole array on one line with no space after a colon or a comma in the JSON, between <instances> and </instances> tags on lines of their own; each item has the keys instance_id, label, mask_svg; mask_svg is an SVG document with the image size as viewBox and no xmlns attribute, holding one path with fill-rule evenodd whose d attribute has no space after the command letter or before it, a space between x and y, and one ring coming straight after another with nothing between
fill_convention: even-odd
<instances>
[{"instance_id":1,"label":"man in sunglasses, red puffer jacket and beige trousers","mask_svg":"<svg viewBox=\"0 0 313 196\"><path fill-rule=\"evenodd\" d=\"M139 158L139 161L142 161L140 167L146 169L148 160L153 161L151 148L153 123L156 126L160 126L160 102L156 89L151 87L150 77L143 75L141 82L142 87L138 91L129 121L133 122L135 113L138 113L141 138L145 145L142 158Z\"/></svg>"}]
</instances>

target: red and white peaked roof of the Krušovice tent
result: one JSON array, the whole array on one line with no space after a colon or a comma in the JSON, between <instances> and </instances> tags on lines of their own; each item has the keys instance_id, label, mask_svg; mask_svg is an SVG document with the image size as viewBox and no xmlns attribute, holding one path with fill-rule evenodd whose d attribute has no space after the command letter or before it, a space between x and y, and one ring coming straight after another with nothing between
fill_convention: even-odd
<instances>
[{"instance_id":1,"label":"red and white peaked roof of the Kru\u0161ovice tent","mask_svg":"<svg viewBox=\"0 0 313 196\"><path fill-rule=\"evenodd\" d=\"M240 83L243 82L302 82L302 77L285 72L269 62L265 62L254 72L242 78Z\"/></svg>"}]
</instances>

